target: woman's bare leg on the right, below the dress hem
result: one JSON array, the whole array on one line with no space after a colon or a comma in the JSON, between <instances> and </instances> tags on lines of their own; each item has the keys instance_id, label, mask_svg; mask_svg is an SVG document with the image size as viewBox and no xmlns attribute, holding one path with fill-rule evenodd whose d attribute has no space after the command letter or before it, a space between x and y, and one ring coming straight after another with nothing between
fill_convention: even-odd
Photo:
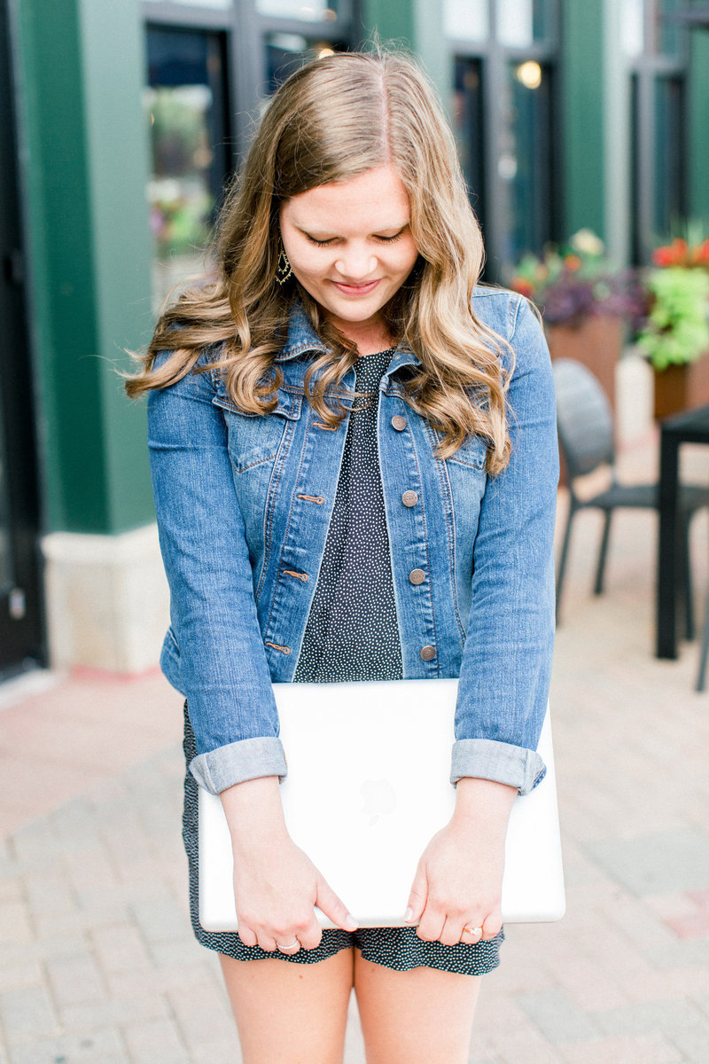
<instances>
[{"instance_id":1,"label":"woman's bare leg on the right, below the dress hem","mask_svg":"<svg viewBox=\"0 0 709 1064\"><path fill-rule=\"evenodd\" d=\"M479 978L394 971L355 950L354 986L367 1064L466 1064Z\"/></svg>"}]
</instances>

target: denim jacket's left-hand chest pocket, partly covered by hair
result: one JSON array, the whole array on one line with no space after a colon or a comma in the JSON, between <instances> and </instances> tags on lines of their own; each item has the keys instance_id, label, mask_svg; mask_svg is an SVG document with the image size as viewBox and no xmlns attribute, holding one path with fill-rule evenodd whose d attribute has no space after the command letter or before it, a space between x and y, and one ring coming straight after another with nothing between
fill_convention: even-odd
<instances>
[{"instance_id":1,"label":"denim jacket's left-hand chest pocket, partly covered by hair","mask_svg":"<svg viewBox=\"0 0 709 1064\"><path fill-rule=\"evenodd\" d=\"M226 426L229 456L238 473L273 462L290 445L303 397L278 392L278 404L270 414L244 414L224 396L215 396Z\"/></svg>"}]
</instances>

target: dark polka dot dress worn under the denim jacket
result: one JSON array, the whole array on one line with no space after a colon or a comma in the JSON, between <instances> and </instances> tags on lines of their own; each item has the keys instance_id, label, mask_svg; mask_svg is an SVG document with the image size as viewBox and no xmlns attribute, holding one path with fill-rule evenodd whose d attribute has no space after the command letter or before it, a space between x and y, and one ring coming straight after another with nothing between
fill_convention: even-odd
<instances>
[{"instance_id":1,"label":"dark polka dot dress worn under the denim jacket","mask_svg":"<svg viewBox=\"0 0 709 1064\"><path fill-rule=\"evenodd\" d=\"M348 423L335 505L294 682L400 680L403 676L376 446L378 387L392 353L390 349L357 360L355 389L360 395ZM197 748L186 702L184 750L189 765ZM480 976L500 964L502 931L491 942L443 946L423 942L416 928L359 928L352 933L325 928L317 949L301 949L292 955L244 946L235 932L205 931L199 921L198 787L189 771L185 776L183 839L195 935L208 949L238 961L278 958L292 964L315 964L356 946L366 960L396 971L425 966Z\"/></svg>"}]
</instances>

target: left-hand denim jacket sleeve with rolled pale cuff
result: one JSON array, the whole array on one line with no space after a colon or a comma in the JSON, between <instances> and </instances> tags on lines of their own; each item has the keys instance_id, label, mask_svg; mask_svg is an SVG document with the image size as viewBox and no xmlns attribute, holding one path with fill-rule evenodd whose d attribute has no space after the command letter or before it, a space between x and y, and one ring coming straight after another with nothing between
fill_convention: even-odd
<instances>
[{"instance_id":1,"label":"left-hand denim jacket sleeve with rolled pale cuff","mask_svg":"<svg viewBox=\"0 0 709 1064\"><path fill-rule=\"evenodd\" d=\"M167 355L161 355L161 361ZM150 393L148 446L170 620L212 794L286 772L226 430L209 371Z\"/></svg>"}]
</instances>

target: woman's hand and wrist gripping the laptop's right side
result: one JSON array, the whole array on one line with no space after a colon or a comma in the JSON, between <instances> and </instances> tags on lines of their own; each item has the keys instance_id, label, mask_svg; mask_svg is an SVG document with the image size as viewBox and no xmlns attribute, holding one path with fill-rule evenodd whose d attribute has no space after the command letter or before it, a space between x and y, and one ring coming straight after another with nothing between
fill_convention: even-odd
<instances>
[{"instance_id":1,"label":"woman's hand and wrist gripping the laptop's right side","mask_svg":"<svg viewBox=\"0 0 709 1064\"><path fill-rule=\"evenodd\" d=\"M423 851L406 912L425 942L494 938L502 927L505 836L514 787L466 777L456 808ZM470 928L472 930L466 930Z\"/></svg>"}]
</instances>

